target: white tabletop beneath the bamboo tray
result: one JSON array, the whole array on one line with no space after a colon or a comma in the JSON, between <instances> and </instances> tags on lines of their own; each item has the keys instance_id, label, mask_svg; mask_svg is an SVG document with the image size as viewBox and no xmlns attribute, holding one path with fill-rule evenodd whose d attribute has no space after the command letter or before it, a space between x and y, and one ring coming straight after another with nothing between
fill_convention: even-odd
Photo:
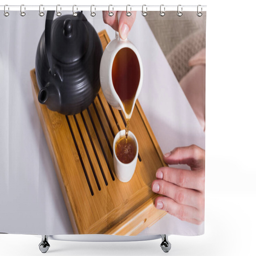
<instances>
[{"instance_id":1,"label":"white tabletop beneath the bamboo tray","mask_svg":"<svg viewBox=\"0 0 256 256\"><path fill-rule=\"evenodd\" d=\"M84 13L97 32L106 29L114 38L101 15ZM12 12L0 19L0 231L73 234L31 92L29 71L35 67L45 16ZM190 144L204 148L205 134L142 15L137 15L129 39L143 62L140 104L163 153ZM204 224L167 214L140 234L160 233L202 234Z\"/></svg>"}]
</instances>

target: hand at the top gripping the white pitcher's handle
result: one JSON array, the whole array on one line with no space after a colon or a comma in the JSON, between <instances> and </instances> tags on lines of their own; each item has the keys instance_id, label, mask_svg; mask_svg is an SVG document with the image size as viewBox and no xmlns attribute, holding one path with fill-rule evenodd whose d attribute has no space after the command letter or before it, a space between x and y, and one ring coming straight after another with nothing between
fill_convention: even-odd
<instances>
[{"instance_id":1,"label":"hand at the top gripping the white pitcher's handle","mask_svg":"<svg viewBox=\"0 0 256 256\"><path fill-rule=\"evenodd\" d=\"M126 39L128 36L128 33L130 32L132 25L136 18L136 12L131 12L132 15L127 16L126 12L124 11L118 11L121 12L121 16L119 19L117 19L117 11L112 11L114 13L113 16L108 15L108 11L102 11L103 20L106 24L111 26L113 29L119 32L119 35L122 39Z\"/></svg>"}]
</instances>

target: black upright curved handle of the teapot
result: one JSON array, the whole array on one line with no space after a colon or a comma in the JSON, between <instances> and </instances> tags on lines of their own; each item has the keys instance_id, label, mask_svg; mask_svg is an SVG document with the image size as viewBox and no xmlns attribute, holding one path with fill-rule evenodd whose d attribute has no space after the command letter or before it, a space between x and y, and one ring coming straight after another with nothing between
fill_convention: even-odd
<instances>
[{"instance_id":1,"label":"black upright curved handle of the teapot","mask_svg":"<svg viewBox=\"0 0 256 256\"><path fill-rule=\"evenodd\" d=\"M54 69L53 69L53 63L52 63L52 49L51 49L52 36L51 35L52 35L52 22L53 22L54 12L55 11L47 11L46 20L45 20L45 30L44 30L46 55L47 55L52 76L54 75Z\"/></svg>"}]
</instances>

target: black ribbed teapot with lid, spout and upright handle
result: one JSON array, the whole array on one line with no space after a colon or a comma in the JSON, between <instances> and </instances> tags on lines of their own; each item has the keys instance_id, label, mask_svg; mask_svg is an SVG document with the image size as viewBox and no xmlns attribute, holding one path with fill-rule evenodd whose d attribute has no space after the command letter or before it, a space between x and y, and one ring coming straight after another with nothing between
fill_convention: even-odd
<instances>
[{"instance_id":1,"label":"black ribbed teapot with lid, spout and upright handle","mask_svg":"<svg viewBox=\"0 0 256 256\"><path fill-rule=\"evenodd\" d=\"M53 20L47 11L45 31L36 51L38 101L64 115L86 109L100 89L100 38L82 12Z\"/></svg>"}]
</instances>

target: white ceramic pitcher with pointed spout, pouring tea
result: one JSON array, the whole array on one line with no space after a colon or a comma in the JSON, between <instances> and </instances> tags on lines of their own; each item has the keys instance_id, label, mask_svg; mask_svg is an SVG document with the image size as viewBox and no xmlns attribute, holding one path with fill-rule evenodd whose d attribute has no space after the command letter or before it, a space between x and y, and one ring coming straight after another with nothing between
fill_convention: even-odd
<instances>
[{"instance_id":1,"label":"white ceramic pitcher with pointed spout, pouring tea","mask_svg":"<svg viewBox=\"0 0 256 256\"><path fill-rule=\"evenodd\" d=\"M125 47L132 49L132 51L136 54L139 61L139 65L140 65L140 81L139 81L138 89L132 103L132 110L129 115L127 115L127 113L125 112L124 105L120 100L118 94L116 93L116 90L114 88L113 81L112 81L113 61L115 59L117 52ZM132 74L130 75L132 76ZM102 92L106 100L108 101L108 103L114 108L122 109L126 118L131 118L132 116L132 111L135 105L135 101L137 100L140 94L142 80L143 80L143 68L142 68L142 61L141 61L138 50L136 49L134 44L132 44L128 39L123 40L122 38L120 38L119 33L116 32L116 38L107 45L101 58L100 84L101 84Z\"/></svg>"}]
</instances>

